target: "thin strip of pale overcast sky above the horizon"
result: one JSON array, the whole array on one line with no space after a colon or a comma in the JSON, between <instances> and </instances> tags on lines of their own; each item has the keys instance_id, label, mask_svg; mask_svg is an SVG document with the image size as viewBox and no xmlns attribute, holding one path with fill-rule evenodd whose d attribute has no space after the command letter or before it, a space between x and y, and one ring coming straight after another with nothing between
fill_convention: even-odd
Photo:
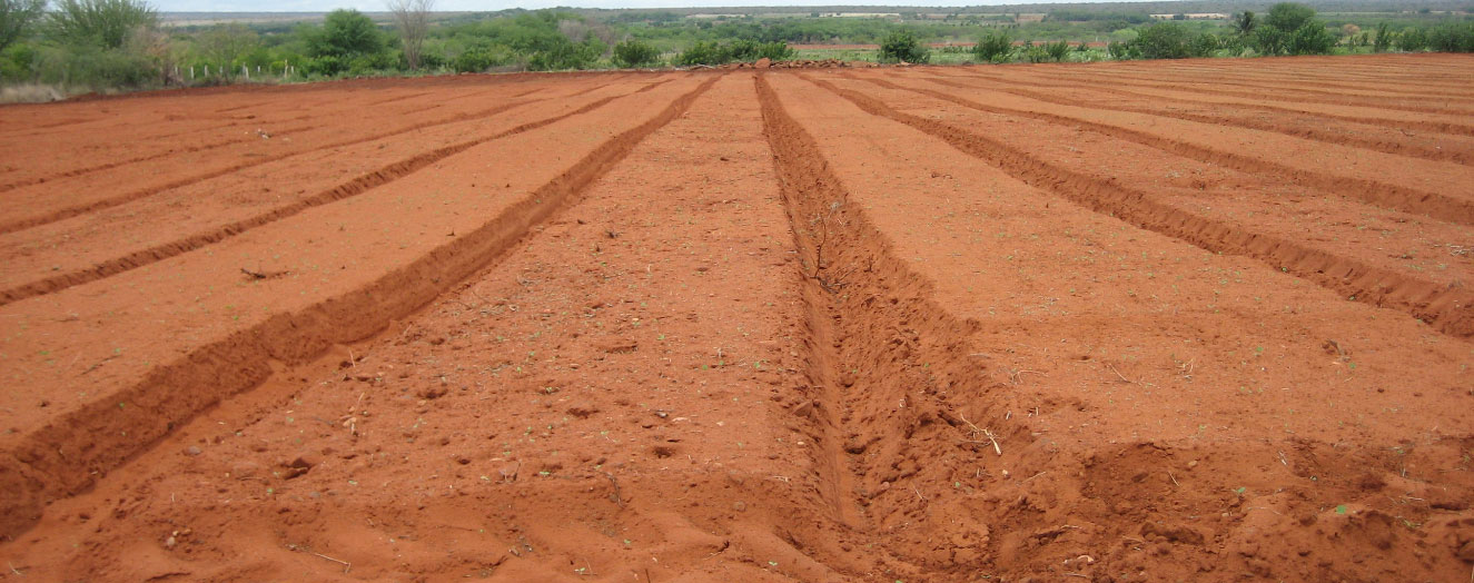
<instances>
[{"instance_id":1,"label":"thin strip of pale overcast sky above the horizon","mask_svg":"<svg viewBox=\"0 0 1474 583\"><path fill-rule=\"evenodd\" d=\"M1103 1L1103 0L1032 0L1029 3L1061 3L1061 1ZM1116 0L1120 1L1120 0ZM967 1L952 3L952 6L996 6L1020 4L1016 1ZM340 7L354 7L366 12L383 10L383 0L153 0L152 4L164 12L327 12ZM436 0L436 10L504 10L511 7L542 9L554 6L576 7L694 7L694 6L824 6L825 1L792 1L792 0L514 0L514 1L485 1L485 0ZM840 4L830 0L828 4ZM846 6L946 6L939 0L884 0L884 1L843 1Z\"/></svg>"}]
</instances>

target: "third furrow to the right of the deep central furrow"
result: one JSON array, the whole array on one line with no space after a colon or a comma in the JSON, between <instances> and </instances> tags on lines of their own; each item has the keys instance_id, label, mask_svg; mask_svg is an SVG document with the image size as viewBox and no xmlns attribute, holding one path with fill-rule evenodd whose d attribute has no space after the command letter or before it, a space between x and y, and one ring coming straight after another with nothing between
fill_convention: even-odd
<instances>
[{"instance_id":1,"label":"third furrow to the right of the deep central furrow","mask_svg":"<svg viewBox=\"0 0 1474 583\"><path fill-rule=\"evenodd\" d=\"M968 90L982 89L982 87L977 87L977 86L970 86L970 84L965 84L965 83L954 81L951 78L930 77L930 78L924 78L924 80L932 81L932 83L937 83L937 84L942 84L942 86L946 86L946 87L955 87L955 89L968 89ZM1060 86L1063 87L1063 84L1060 84ZM1048 93L1042 93L1042 92L1032 92L1032 90L1027 90L1027 89L1017 89L1017 87L1010 87L1010 86L999 86L999 87L991 87L991 89L995 89L995 90L1002 92L1002 93L1013 93L1013 94L1017 94L1020 97L1036 99L1036 100L1041 100L1041 102L1048 102L1048 103L1055 103L1055 105L1067 105L1067 106L1089 108L1089 109L1104 109L1104 111L1123 111L1123 112L1145 114L1145 115L1160 115L1160 117L1169 117L1169 118L1187 120L1187 121L1197 121L1197 123L1213 124L1213 125L1235 125L1235 127L1243 127L1243 128L1248 128L1248 130L1274 131L1274 133L1285 134L1285 136L1290 136L1290 137L1300 137L1300 139L1325 142L1325 143L1334 143L1334 145L1350 146L1350 148L1362 148L1362 149L1368 149L1368 151L1374 151L1374 152L1383 152L1383 153L1393 153L1393 155L1402 155L1402 156L1424 158L1424 159L1433 159L1433 161L1440 161L1440 162L1456 162L1456 164L1465 164L1465 165L1474 164L1474 153L1471 153L1471 152L1445 151L1445 149L1437 149L1437 148L1424 148L1424 146L1411 145L1411 143L1399 142L1399 140L1377 140L1377 139L1359 137L1359 136L1353 136L1353 134L1324 131L1324 130L1319 130L1316 127L1306 127L1306 125L1285 127L1282 124L1275 124L1275 123L1271 123L1271 121L1266 121L1266 120L1262 120L1262 118L1192 114L1192 112L1176 111L1176 109L1120 105L1120 103L1113 102L1113 100L1066 99L1066 97L1057 97L1057 96L1052 96L1052 94L1048 94ZM1101 92L1101 93L1120 94L1120 96L1132 96L1128 92L1119 92L1119 90L1110 90L1110 89L1088 89L1088 90L1097 90L1097 92ZM1167 99L1159 99L1159 100L1167 100ZM1178 102L1181 103L1182 100L1178 100ZM1313 115L1313 114L1310 114L1310 115Z\"/></svg>"}]
</instances>

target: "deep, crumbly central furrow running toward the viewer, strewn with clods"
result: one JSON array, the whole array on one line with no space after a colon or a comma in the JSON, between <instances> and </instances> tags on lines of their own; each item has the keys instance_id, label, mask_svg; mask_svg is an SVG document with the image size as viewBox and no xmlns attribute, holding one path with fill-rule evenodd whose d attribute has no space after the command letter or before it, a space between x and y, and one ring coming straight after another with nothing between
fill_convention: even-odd
<instances>
[{"instance_id":1,"label":"deep, crumbly central furrow running toward the viewer, strewn with clods","mask_svg":"<svg viewBox=\"0 0 1474 583\"><path fill-rule=\"evenodd\" d=\"M965 447L957 435L968 422L946 396L977 404L993 385L968 357L976 353L971 338L980 325L936 300L930 279L898 257L890 239L849 199L820 145L786 111L769 81L759 75L756 84L800 254L808 382L815 388L811 415L820 427L820 465L831 475L836 514L867 531L901 520L917 520L926 533L965 530L940 515L915 518L915 484L935 477L914 468L914 460ZM973 559L937 562L905 545L884 548L933 570L976 567Z\"/></svg>"}]
</instances>

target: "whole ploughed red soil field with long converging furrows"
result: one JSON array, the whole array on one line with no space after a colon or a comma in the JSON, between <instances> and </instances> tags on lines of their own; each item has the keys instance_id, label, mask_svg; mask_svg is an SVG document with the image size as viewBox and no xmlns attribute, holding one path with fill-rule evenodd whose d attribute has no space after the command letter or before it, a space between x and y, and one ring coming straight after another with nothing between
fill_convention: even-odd
<instances>
[{"instance_id":1,"label":"whole ploughed red soil field with long converging furrows","mask_svg":"<svg viewBox=\"0 0 1474 583\"><path fill-rule=\"evenodd\" d=\"M0 579L1467 580L1470 78L0 108Z\"/></svg>"}]
</instances>

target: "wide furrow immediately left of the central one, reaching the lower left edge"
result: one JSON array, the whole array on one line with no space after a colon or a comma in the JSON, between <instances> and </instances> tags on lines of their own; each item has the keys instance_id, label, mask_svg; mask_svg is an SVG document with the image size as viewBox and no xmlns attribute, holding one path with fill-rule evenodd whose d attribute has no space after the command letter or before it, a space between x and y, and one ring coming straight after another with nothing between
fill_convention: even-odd
<instances>
[{"instance_id":1,"label":"wide furrow immediately left of the central one, reaching the lower left edge","mask_svg":"<svg viewBox=\"0 0 1474 583\"><path fill-rule=\"evenodd\" d=\"M713 75L644 123L604 140L475 230L357 289L195 347L172 363L153 366L146 378L130 381L109 399L83 404L19 437L12 450L0 452L0 484L7 487L0 500L0 536L29 528L46 499L85 490L97 474L152 447L174 427L261 384L271 375L271 362L308 362L336 342L368 337L513 249L535 224L576 201L635 145L685 114L718 78ZM137 406L119 410L119 401Z\"/></svg>"}]
</instances>

